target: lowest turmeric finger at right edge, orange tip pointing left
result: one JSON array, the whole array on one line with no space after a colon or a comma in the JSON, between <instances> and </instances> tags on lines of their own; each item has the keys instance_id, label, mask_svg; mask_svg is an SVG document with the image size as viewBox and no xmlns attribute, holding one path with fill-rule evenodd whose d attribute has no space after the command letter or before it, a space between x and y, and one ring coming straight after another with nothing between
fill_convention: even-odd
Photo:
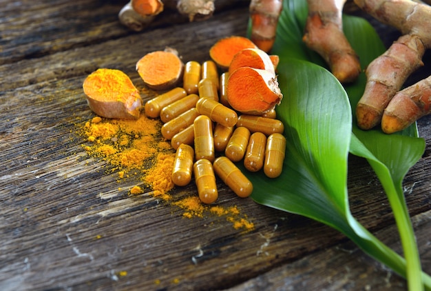
<instances>
[{"instance_id":1,"label":"lowest turmeric finger at right edge, orange tip pointing left","mask_svg":"<svg viewBox=\"0 0 431 291\"><path fill-rule=\"evenodd\" d=\"M428 77L395 94L383 112L381 130L388 134L404 130L430 113L431 77Z\"/></svg>"}]
</instances>

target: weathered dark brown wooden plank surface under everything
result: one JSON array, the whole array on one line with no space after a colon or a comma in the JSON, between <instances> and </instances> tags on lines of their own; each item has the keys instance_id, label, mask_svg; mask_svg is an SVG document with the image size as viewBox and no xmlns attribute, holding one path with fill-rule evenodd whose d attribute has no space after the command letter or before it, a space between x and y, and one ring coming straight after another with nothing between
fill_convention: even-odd
<instances>
[{"instance_id":1,"label":"weathered dark brown wooden plank surface under everything","mask_svg":"<svg viewBox=\"0 0 431 291\"><path fill-rule=\"evenodd\" d=\"M185 219L151 195L130 197L138 178L118 182L83 150L75 123L94 116L87 74L118 68L139 83L136 61L165 46L205 61L216 40L245 34L246 2L136 33L118 23L125 1L0 0L1 290L406 290L326 225L235 198L222 184L218 204L237 205L254 230L209 214ZM419 132L425 154L403 185L430 274L429 117ZM353 215L399 252L388 201L362 159L349 161L348 190Z\"/></svg>"}]
</instances>

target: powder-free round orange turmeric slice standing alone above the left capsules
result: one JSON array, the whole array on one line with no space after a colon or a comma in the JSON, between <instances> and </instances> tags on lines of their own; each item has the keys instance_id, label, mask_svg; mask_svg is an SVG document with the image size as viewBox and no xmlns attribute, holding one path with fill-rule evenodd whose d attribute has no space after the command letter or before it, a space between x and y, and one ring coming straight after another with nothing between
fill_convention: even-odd
<instances>
[{"instance_id":1,"label":"powder-free round orange turmeric slice standing alone above the left capsules","mask_svg":"<svg viewBox=\"0 0 431 291\"><path fill-rule=\"evenodd\" d=\"M178 84L184 71L178 52L172 48L145 54L136 70L146 86L153 90L170 90Z\"/></svg>"}]
</instances>

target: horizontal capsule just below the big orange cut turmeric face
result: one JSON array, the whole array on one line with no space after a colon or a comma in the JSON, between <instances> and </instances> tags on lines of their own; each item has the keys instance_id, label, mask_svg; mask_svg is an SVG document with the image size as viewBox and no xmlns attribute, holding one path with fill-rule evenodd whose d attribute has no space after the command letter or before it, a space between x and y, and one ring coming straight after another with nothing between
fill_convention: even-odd
<instances>
[{"instance_id":1,"label":"horizontal capsule just below the big orange cut turmeric face","mask_svg":"<svg viewBox=\"0 0 431 291\"><path fill-rule=\"evenodd\" d=\"M266 117L242 114L238 117L236 126L244 126L251 132L262 132L266 136L273 133L283 133L284 126L282 121Z\"/></svg>"}]
</instances>

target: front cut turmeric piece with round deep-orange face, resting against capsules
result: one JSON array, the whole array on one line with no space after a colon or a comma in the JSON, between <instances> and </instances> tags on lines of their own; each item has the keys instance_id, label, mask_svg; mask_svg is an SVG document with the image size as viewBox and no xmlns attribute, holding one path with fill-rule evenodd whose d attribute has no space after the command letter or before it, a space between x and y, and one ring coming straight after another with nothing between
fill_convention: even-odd
<instances>
[{"instance_id":1,"label":"front cut turmeric piece with round deep-orange face, resting against capsules","mask_svg":"<svg viewBox=\"0 0 431 291\"><path fill-rule=\"evenodd\" d=\"M262 115L279 104L282 97L277 78L271 72L242 67L229 74L227 100L239 112Z\"/></svg>"}]
</instances>

